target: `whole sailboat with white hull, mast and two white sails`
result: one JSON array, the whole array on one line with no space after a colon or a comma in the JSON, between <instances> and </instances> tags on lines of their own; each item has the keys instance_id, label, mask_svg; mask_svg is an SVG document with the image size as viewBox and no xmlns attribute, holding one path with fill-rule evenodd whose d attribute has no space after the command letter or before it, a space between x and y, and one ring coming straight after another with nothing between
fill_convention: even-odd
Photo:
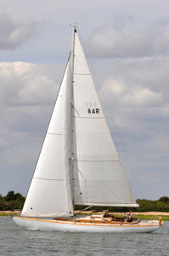
<instances>
[{"instance_id":1,"label":"whole sailboat with white hull, mast and two white sails","mask_svg":"<svg viewBox=\"0 0 169 256\"><path fill-rule=\"evenodd\" d=\"M14 222L27 229L152 232L162 223L76 215L84 207L138 207L121 166L73 26L70 57L25 205Z\"/></svg>"}]
</instances>

